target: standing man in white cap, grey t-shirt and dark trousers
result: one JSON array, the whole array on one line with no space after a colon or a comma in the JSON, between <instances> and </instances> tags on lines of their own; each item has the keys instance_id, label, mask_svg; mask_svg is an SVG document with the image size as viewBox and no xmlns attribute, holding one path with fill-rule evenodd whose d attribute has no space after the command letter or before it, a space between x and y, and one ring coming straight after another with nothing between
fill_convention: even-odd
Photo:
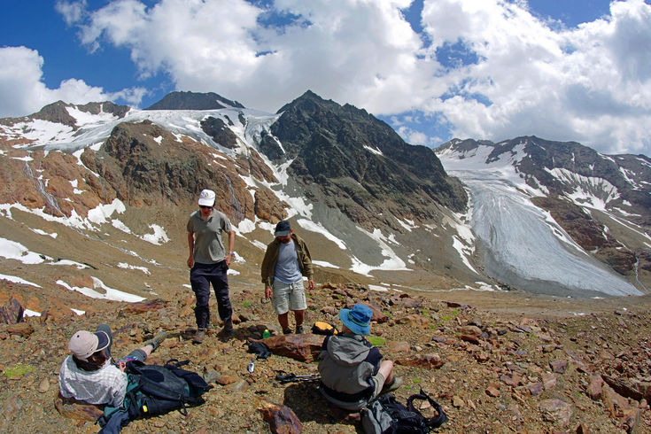
<instances>
[{"instance_id":1,"label":"standing man in white cap, grey t-shirt and dark trousers","mask_svg":"<svg viewBox=\"0 0 651 434\"><path fill-rule=\"evenodd\" d=\"M224 333L233 331L233 308L229 299L230 261L235 244L235 230L230 226L229 218L213 209L215 194L213 190L202 190L199 195L199 209L190 214L188 221L188 267L190 267L190 284L197 296L194 314L197 319L197 334L193 342L201 344L205 339L205 330L210 326L210 284L213 283L214 295ZM221 241L221 232L229 234L229 249Z\"/></svg>"}]
</instances>

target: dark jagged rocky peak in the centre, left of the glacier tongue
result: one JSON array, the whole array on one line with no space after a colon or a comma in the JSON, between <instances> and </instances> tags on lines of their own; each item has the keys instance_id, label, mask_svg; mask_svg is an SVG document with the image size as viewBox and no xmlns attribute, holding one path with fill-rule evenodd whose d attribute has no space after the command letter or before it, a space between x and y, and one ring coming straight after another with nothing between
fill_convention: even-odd
<instances>
[{"instance_id":1,"label":"dark jagged rocky peak in the centre, left of the glacier tongue","mask_svg":"<svg viewBox=\"0 0 651 434\"><path fill-rule=\"evenodd\" d=\"M436 219L440 205L465 208L461 185L430 148L405 143L365 110L308 90L278 112L260 150L278 162L292 159L288 172L298 182L308 189L317 184L364 227L399 229L391 214L425 221Z\"/></svg>"}]
</instances>

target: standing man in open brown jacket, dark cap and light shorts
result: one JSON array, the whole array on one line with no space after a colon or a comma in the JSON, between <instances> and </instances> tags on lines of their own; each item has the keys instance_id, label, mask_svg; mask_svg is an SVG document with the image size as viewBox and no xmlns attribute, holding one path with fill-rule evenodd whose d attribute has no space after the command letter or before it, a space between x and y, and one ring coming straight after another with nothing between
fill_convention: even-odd
<instances>
[{"instance_id":1,"label":"standing man in open brown jacket, dark cap and light shorts","mask_svg":"<svg viewBox=\"0 0 651 434\"><path fill-rule=\"evenodd\" d=\"M294 234L289 221L275 225L275 239L267 245L260 274L265 284L265 297L271 298L278 314L283 334L291 333L287 313L294 312L296 332L304 333L303 320L307 308L303 276L307 277L307 289L314 289L312 259L307 245Z\"/></svg>"}]
</instances>

